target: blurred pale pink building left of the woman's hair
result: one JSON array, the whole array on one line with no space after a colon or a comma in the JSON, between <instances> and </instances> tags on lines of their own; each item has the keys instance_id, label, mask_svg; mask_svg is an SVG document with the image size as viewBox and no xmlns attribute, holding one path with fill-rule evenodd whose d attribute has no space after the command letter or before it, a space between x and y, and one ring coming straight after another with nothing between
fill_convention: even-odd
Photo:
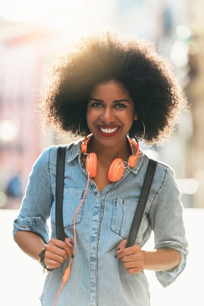
<instances>
[{"instance_id":1,"label":"blurred pale pink building left of the woman's hair","mask_svg":"<svg viewBox=\"0 0 204 306\"><path fill-rule=\"evenodd\" d=\"M29 23L0 24L0 200L7 193L7 208L19 207L41 152L37 105L51 37Z\"/></svg>"}]
</instances>

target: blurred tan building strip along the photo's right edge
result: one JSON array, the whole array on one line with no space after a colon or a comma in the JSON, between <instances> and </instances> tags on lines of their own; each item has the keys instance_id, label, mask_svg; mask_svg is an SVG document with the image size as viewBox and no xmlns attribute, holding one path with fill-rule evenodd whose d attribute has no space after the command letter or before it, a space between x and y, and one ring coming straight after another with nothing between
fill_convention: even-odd
<instances>
[{"instance_id":1,"label":"blurred tan building strip along the photo's right edge","mask_svg":"<svg viewBox=\"0 0 204 306\"><path fill-rule=\"evenodd\" d=\"M198 182L193 206L204 207L204 1L192 1L189 44L189 77L186 88L193 117L193 137L189 143L188 175Z\"/></svg>"}]
</instances>

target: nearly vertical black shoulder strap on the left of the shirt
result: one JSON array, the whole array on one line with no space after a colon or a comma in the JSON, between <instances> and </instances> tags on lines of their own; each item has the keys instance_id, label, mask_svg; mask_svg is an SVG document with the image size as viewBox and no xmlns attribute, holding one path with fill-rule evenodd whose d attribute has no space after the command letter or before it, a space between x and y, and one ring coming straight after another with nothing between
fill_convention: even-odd
<instances>
[{"instance_id":1,"label":"nearly vertical black shoulder strap on the left of the shirt","mask_svg":"<svg viewBox=\"0 0 204 306\"><path fill-rule=\"evenodd\" d=\"M65 166L66 147L58 147L57 170L56 170L56 202L55 202L55 224L57 239L64 241L63 227L63 190L64 190L64 166Z\"/></svg>"}]
</instances>

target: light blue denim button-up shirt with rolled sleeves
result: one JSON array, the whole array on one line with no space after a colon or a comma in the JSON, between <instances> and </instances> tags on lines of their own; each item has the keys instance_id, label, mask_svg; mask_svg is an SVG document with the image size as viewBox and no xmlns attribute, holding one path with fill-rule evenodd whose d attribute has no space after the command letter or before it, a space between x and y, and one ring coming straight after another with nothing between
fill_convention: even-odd
<instances>
[{"instance_id":1,"label":"light blue denim button-up shirt with rolled sleeves","mask_svg":"<svg viewBox=\"0 0 204 306\"><path fill-rule=\"evenodd\" d=\"M63 224L67 237L74 240L73 220L87 183L81 161L81 141L66 150L63 198ZM44 150L29 176L20 214L14 231L32 231L49 241L47 219L51 219L51 237L56 238L55 185L57 146ZM76 219L77 247L69 280L64 285L57 306L148 306L148 282L144 272L129 274L121 260L115 259L118 244L128 238L140 197L148 157L141 154L134 168L122 179L110 183L100 194L90 179L85 200ZM143 247L154 231L155 249L169 247L181 254L179 265L156 272L165 287L183 271L187 255L182 220L183 207L173 170L158 162L136 243ZM48 274L41 295L42 306L53 306L62 284L66 260Z\"/></svg>"}]
</instances>

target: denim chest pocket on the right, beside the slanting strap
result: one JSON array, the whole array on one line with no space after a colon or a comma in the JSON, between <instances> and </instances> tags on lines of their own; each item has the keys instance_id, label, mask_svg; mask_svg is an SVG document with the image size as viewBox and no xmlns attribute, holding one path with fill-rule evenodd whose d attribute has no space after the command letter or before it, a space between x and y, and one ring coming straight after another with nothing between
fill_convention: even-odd
<instances>
[{"instance_id":1,"label":"denim chest pocket on the right, beside the slanting strap","mask_svg":"<svg viewBox=\"0 0 204 306\"><path fill-rule=\"evenodd\" d=\"M114 198L110 229L127 239L138 203L121 198ZM142 222L143 223L143 222ZM143 224L141 224L141 227Z\"/></svg>"}]
</instances>

